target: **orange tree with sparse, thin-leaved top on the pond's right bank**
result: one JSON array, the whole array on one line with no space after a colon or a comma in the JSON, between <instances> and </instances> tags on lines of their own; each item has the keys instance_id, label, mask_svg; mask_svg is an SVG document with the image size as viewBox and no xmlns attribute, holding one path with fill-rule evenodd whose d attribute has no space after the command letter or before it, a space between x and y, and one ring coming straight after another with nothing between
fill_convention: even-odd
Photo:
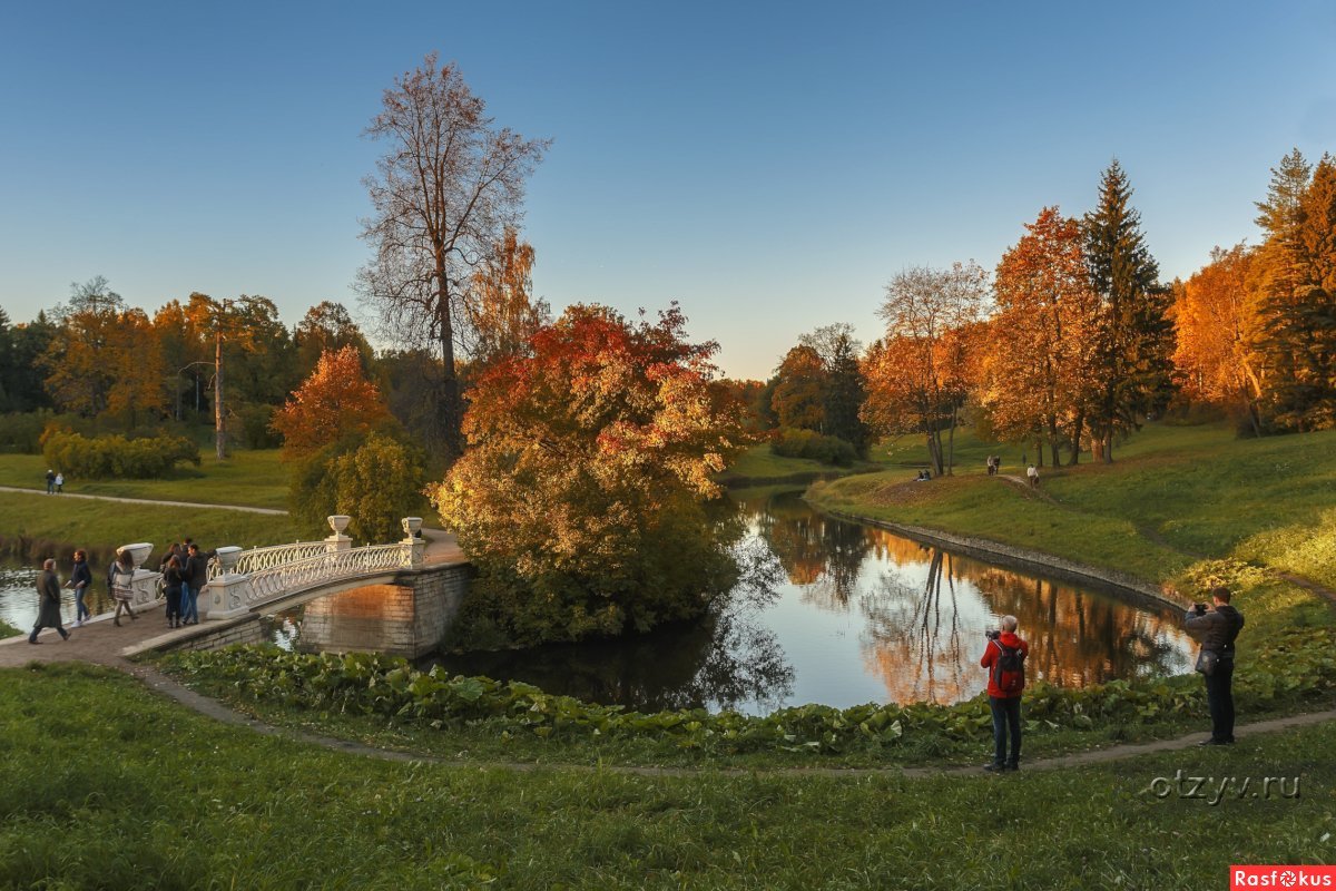
<instances>
[{"instance_id":1,"label":"orange tree with sparse, thin-leaved top on the pond's right bank","mask_svg":"<svg viewBox=\"0 0 1336 891\"><path fill-rule=\"evenodd\" d=\"M975 350L970 334L987 299L987 273L973 260L947 270L907 269L886 286L878 311L886 335L863 358L863 421L874 434L922 434L937 474L951 472Z\"/></svg>"}]
</instances>

